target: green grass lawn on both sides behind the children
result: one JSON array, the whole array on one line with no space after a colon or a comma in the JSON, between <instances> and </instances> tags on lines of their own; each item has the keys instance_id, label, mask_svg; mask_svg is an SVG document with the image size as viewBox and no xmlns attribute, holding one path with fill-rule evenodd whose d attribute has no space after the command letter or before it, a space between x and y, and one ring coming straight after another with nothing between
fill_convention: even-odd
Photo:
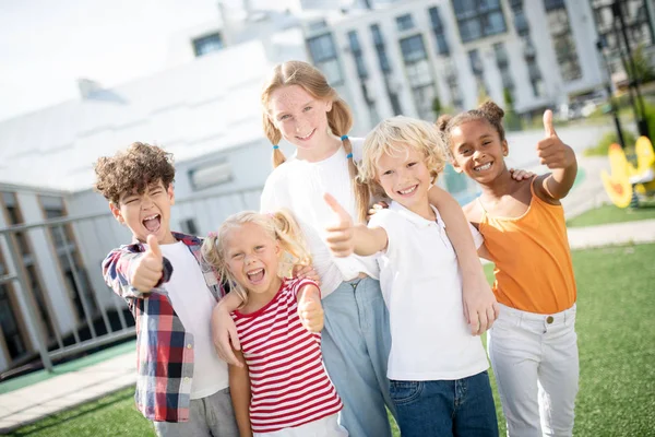
<instances>
[{"instance_id":1,"label":"green grass lawn on both sides behind the children","mask_svg":"<svg viewBox=\"0 0 655 437\"><path fill-rule=\"evenodd\" d=\"M654 260L655 244L573 252L581 368L575 436L655 435ZM496 395L493 379L492 386ZM119 391L11 435L154 436L132 395ZM497 395L496 402L502 436Z\"/></svg>"}]
</instances>

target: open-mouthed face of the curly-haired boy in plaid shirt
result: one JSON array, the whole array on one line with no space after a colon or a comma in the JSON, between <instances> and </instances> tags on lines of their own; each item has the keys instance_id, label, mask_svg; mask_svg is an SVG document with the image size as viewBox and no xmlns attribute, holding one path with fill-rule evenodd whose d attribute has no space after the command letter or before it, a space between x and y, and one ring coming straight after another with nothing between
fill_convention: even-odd
<instances>
[{"instance_id":1,"label":"open-mouthed face of the curly-haired boy in plaid shirt","mask_svg":"<svg viewBox=\"0 0 655 437\"><path fill-rule=\"evenodd\" d=\"M142 194L121 194L118 205L109 204L119 223L127 225L135 238L145 241L148 235L157 237L160 244L175 243L170 234L170 206L175 203L172 185L164 188L164 182L147 186Z\"/></svg>"}]
</instances>

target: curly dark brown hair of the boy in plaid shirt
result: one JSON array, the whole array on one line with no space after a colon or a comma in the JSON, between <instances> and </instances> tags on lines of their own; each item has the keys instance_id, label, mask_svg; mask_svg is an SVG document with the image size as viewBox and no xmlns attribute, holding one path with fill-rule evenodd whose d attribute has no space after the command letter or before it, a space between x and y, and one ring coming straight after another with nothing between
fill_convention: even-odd
<instances>
[{"instance_id":1,"label":"curly dark brown hair of the boy in plaid shirt","mask_svg":"<svg viewBox=\"0 0 655 437\"><path fill-rule=\"evenodd\" d=\"M118 204L122 194L138 192L162 180L164 188L175 178L172 154L146 143L132 143L126 152L103 156L95 163L95 190Z\"/></svg>"}]
</instances>

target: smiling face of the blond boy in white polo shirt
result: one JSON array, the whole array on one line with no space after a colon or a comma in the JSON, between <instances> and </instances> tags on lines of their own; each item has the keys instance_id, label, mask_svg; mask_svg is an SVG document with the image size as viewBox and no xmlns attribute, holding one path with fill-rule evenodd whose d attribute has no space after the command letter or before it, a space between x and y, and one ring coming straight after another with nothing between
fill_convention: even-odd
<instances>
[{"instance_id":1,"label":"smiling face of the blond boy in white polo shirt","mask_svg":"<svg viewBox=\"0 0 655 437\"><path fill-rule=\"evenodd\" d=\"M424 154L414 147L383 154L378 161L378 182L386 196L410 211L425 210L432 182Z\"/></svg>"}]
</instances>

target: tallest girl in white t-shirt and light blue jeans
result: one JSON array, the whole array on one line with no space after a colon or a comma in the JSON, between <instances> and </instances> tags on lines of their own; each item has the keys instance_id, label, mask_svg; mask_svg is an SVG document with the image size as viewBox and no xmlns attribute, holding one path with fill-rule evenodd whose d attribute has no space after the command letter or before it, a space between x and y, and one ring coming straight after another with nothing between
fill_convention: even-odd
<instances>
[{"instance_id":1,"label":"tallest girl in white t-shirt and light blue jeans","mask_svg":"<svg viewBox=\"0 0 655 437\"><path fill-rule=\"evenodd\" d=\"M364 140L348 138L353 126L348 105L307 62L276 66L264 84L261 104L275 166L264 186L261 209L291 211L312 255L325 311L323 356L344 400L340 423L353 436L391 436L386 415L386 409L395 414L386 378L391 339L376 257L337 258L324 240L324 229L333 220L324 193L331 193L352 216L365 220L364 213L355 214L356 203L368 203L369 198L368 189L356 181L355 163L361 158ZM278 146L283 139L296 147L288 160ZM480 273L468 224L450 194L437 188L430 193L453 233L451 240L465 272L464 300L472 331L484 332L496 318L496 299ZM230 343L239 347L228 317L234 300L222 300L213 317L218 354L231 364L237 359Z\"/></svg>"}]
</instances>

